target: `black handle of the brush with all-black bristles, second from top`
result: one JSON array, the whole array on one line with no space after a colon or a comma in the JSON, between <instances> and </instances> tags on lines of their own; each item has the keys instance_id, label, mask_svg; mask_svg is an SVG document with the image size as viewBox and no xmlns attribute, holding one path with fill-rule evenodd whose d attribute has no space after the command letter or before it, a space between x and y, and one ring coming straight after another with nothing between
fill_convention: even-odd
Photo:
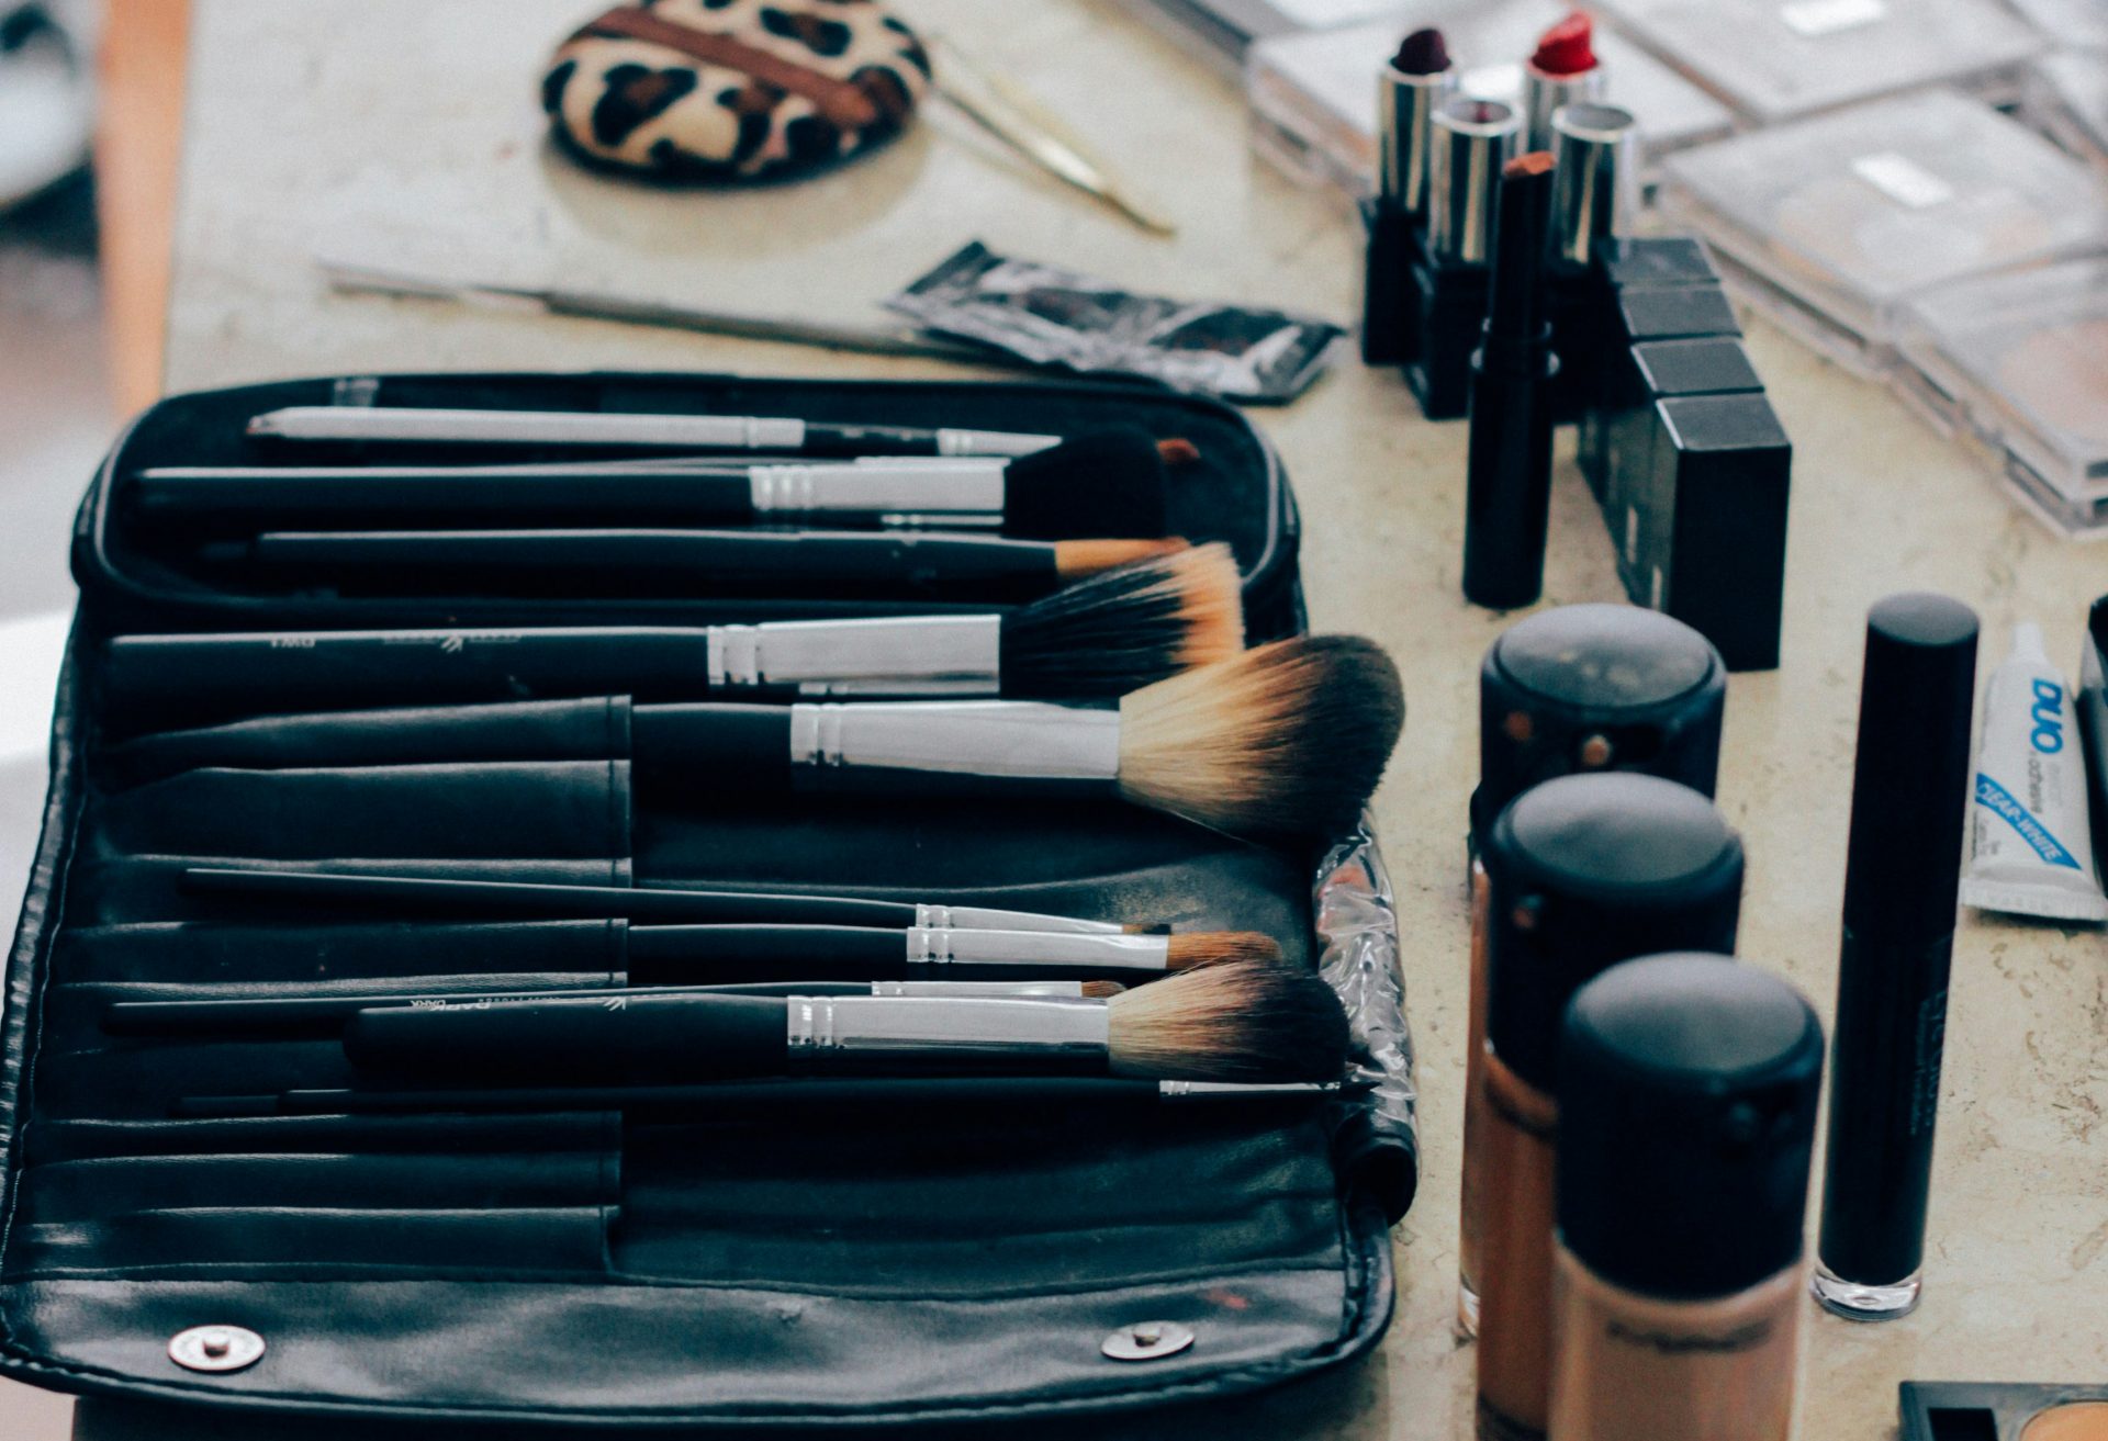
<instances>
[{"instance_id":1,"label":"black handle of the brush with all-black bristles, second from top","mask_svg":"<svg viewBox=\"0 0 2108 1441\"><path fill-rule=\"evenodd\" d=\"M746 468L546 472L521 468L141 470L141 518L221 531L344 525L746 525Z\"/></svg>"}]
</instances>

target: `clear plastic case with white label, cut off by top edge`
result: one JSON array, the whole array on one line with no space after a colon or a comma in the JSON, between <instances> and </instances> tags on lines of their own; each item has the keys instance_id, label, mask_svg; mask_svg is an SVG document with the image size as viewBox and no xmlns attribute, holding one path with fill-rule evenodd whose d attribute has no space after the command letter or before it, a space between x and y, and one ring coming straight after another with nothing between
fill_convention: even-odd
<instances>
[{"instance_id":1,"label":"clear plastic case with white label, cut off by top edge","mask_svg":"<svg viewBox=\"0 0 2108 1441\"><path fill-rule=\"evenodd\" d=\"M2043 38L1996 0L1604 0L1758 124L1952 84L2005 99Z\"/></svg>"}]
</instances>

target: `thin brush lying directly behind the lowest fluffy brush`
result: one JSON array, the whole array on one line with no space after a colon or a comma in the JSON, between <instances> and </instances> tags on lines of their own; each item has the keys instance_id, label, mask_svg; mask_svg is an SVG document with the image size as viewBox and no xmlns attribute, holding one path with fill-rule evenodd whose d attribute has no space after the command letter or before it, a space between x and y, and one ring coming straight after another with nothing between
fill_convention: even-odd
<instances>
[{"instance_id":1,"label":"thin brush lying directly behind the lowest fluffy brush","mask_svg":"<svg viewBox=\"0 0 2108 1441\"><path fill-rule=\"evenodd\" d=\"M451 994L358 994L358 996L249 996L240 1001L116 1001L103 1009L110 1037L259 1037L272 1041L329 1039L358 1011L375 1007L483 1007L500 1001L605 1001L639 994L643 988L594 990L506 990ZM1126 986L1107 980L1039 982L748 982L723 986L649 988L645 994L698 996L1043 996L1065 1001L1107 1001Z\"/></svg>"}]
</instances>

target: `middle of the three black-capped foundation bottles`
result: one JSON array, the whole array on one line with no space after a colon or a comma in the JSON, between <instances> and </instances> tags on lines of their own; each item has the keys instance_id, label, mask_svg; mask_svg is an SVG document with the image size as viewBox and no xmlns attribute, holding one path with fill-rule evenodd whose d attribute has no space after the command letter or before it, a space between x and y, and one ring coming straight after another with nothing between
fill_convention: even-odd
<instances>
[{"instance_id":1,"label":"middle of the three black-capped foundation bottles","mask_svg":"<svg viewBox=\"0 0 2108 1441\"><path fill-rule=\"evenodd\" d=\"M1741 843L1689 786L1566 775L1492 824L1482 1117L1465 1167L1480 1228L1480 1435L1541 1437L1551 1395L1551 1203L1558 1039L1596 975L1663 950L1726 952Z\"/></svg>"}]
</instances>

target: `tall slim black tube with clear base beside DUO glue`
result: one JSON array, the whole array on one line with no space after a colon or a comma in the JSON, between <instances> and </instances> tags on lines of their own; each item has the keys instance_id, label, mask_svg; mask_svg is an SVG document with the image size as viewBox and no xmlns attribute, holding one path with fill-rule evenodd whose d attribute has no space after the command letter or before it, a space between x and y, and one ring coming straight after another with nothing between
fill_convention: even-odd
<instances>
[{"instance_id":1,"label":"tall slim black tube with clear base beside DUO glue","mask_svg":"<svg viewBox=\"0 0 2108 1441\"><path fill-rule=\"evenodd\" d=\"M1975 613L1948 596L1889 596L1868 615L1813 1279L1853 1321L1918 1304L1975 647Z\"/></svg>"}]
</instances>

